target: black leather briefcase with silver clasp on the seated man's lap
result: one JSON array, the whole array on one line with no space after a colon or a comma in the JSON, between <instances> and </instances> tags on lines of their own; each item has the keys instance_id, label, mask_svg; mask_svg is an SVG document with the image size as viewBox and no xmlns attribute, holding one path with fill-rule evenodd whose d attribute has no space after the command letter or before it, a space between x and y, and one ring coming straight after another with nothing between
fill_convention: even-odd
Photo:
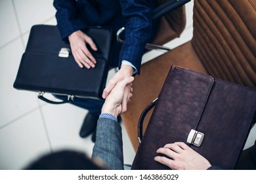
<instances>
[{"instance_id":1,"label":"black leather briefcase with silver clasp on the seated man's lap","mask_svg":"<svg viewBox=\"0 0 256 183\"><path fill-rule=\"evenodd\" d=\"M14 88L39 92L39 98L49 103L43 93L67 95L65 103L75 97L100 99L108 75L108 59L112 48L110 27L90 27L85 30L98 51L90 50L97 63L95 68L81 69L71 54L70 44L62 41L58 27L33 25L26 51L22 56ZM88 46L89 47L89 46Z\"/></svg>"}]
</instances>

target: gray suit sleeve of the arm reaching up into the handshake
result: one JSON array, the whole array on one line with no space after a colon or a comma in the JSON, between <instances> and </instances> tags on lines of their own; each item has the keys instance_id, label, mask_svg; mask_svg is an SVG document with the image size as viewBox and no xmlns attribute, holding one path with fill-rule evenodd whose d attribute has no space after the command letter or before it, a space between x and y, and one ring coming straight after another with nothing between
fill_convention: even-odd
<instances>
[{"instance_id":1,"label":"gray suit sleeve of the arm reaching up into the handshake","mask_svg":"<svg viewBox=\"0 0 256 183\"><path fill-rule=\"evenodd\" d=\"M108 169L123 169L121 126L116 121L109 118L100 118L98 120L92 158L100 158Z\"/></svg>"}]
</instances>

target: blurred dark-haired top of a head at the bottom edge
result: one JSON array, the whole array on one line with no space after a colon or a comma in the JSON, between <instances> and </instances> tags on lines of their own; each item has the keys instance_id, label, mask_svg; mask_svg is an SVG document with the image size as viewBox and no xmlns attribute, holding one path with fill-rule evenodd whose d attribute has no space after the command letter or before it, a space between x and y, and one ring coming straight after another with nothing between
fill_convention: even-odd
<instances>
[{"instance_id":1,"label":"blurred dark-haired top of a head at the bottom edge","mask_svg":"<svg viewBox=\"0 0 256 183\"><path fill-rule=\"evenodd\" d=\"M91 159L87 158L82 152L72 150L62 150L47 154L37 159L28 167L27 170L99 170L102 169L95 165Z\"/></svg>"}]
</instances>

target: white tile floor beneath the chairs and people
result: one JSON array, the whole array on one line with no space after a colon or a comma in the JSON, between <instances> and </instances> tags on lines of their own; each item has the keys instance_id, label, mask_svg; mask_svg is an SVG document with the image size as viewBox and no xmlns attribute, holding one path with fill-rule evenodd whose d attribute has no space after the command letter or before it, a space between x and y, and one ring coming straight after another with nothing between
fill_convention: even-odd
<instances>
[{"instance_id":1,"label":"white tile floor beneath the chairs and people","mask_svg":"<svg viewBox=\"0 0 256 183\"><path fill-rule=\"evenodd\" d=\"M186 5L187 24L179 39L166 44L179 46L192 37L193 1ZM56 25L52 0L0 1L0 169L22 169L41 154L63 148L81 150L91 156L91 137L81 139L79 129L87 110L73 105L51 105L39 101L37 94L12 87L20 58L34 24ZM143 62L160 55L148 52ZM110 75L114 71L110 71ZM251 131L246 146L256 136ZM131 164L135 152L123 127L124 159Z\"/></svg>"}]
</instances>

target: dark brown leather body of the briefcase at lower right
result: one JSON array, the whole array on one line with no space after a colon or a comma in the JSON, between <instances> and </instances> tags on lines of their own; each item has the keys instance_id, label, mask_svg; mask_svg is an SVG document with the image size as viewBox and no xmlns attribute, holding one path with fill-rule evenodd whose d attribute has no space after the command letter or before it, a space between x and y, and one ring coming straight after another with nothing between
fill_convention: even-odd
<instances>
[{"instance_id":1,"label":"dark brown leather body of the briefcase at lower right","mask_svg":"<svg viewBox=\"0 0 256 183\"><path fill-rule=\"evenodd\" d=\"M234 169L255 123L256 90L181 67L171 67L132 169L169 169L154 161L165 144L186 142L191 129L204 133L190 145L213 165Z\"/></svg>"}]
</instances>

